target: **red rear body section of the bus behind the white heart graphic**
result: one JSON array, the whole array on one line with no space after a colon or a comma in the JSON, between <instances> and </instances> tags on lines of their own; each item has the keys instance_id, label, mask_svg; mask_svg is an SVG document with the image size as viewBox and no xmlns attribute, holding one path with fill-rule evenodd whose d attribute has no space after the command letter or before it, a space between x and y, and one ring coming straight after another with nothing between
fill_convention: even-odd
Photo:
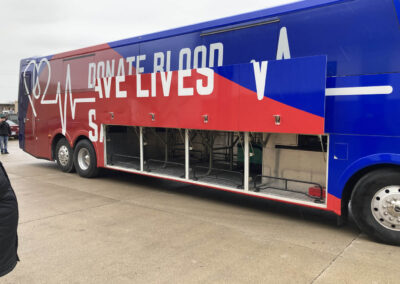
<instances>
[{"instance_id":1,"label":"red rear body section of the bus behind the white heart graphic","mask_svg":"<svg viewBox=\"0 0 400 284\"><path fill-rule=\"evenodd\" d=\"M75 58L64 61L63 58L77 56L80 54L95 52L93 56ZM129 64L116 51L110 49L107 44L98 45L90 48L79 49L67 53L60 53L52 57L50 60L51 73L48 68L44 68L39 75L39 86L37 89L38 99L35 99L31 94L31 100L37 113L37 117L33 115L31 104L28 103L25 123L25 151L35 157L51 159L51 143L57 134L61 131L61 115L66 110L66 134L68 141L73 145L73 141L80 135L88 137L89 131L89 109L96 109L96 122L98 123L98 131L100 132L101 123L112 123L107 120L110 117L110 112L118 113L123 110L121 105L125 105L126 101L115 100L115 92L110 99L99 100L98 94L94 92L94 88L88 88L89 81L89 63L103 61L105 67L110 64L114 70L114 75L118 75L120 60L123 62L123 74L129 72L135 73L135 68L129 71ZM67 68L70 68L70 81L72 100L80 98L95 98L95 103L77 103L75 105L75 118L72 118L72 107L69 91L66 86ZM106 70L104 70L105 72ZM97 68L96 68L97 72ZM92 74L93 76L93 74ZM97 76L97 74L96 74ZM93 77L94 78L94 77ZM54 104L42 104L42 100L51 101L57 98L57 86L60 85L61 102L57 101ZM47 89L46 89L46 86ZM39 90L40 89L40 90ZM115 89L115 88L114 88ZM46 92L44 93L44 91ZM65 99L65 91L67 90L67 98ZM60 104L62 111L60 112ZM104 122L103 122L104 120ZM128 117L121 120L119 123L126 123ZM98 154L98 165L103 166L103 143L95 142L95 148Z\"/></svg>"}]
</instances>

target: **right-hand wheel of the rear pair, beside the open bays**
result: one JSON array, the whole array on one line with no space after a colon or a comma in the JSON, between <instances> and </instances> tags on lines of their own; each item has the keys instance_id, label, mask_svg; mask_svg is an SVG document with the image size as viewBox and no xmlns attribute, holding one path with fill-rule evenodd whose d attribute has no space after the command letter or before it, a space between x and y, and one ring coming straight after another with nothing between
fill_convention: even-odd
<instances>
[{"instance_id":1,"label":"right-hand wheel of the rear pair, beside the open bays","mask_svg":"<svg viewBox=\"0 0 400 284\"><path fill-rule=\"evenodd\" d=\"M75 147L74 164L81 177L92 178L97 176L96 151L89 140L81 140Z\"/></svg>"}]
</instances>

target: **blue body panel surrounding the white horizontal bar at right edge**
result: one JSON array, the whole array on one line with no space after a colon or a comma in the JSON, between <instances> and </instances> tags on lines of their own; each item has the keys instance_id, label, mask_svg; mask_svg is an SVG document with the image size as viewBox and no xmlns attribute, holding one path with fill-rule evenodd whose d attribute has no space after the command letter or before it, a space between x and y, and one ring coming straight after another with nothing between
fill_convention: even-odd
<instances>
[{"instance_id":1,"label":"blue body panel surrounding the white horizontal bar at right edge","mask_svg":"<svg viewBox=\"0 0 400 284\"><path fill-rule=\"evenodd\" d=\"M329 78L327 88L392 86L387 95L326 97L325 131L400 136L400 74Z\"/></svg>"}]
</instances>

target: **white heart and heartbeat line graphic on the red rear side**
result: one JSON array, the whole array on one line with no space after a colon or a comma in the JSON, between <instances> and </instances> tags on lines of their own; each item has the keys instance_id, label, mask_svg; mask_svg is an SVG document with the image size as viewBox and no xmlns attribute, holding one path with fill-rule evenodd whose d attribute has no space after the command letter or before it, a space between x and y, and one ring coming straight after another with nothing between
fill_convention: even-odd
<instances>
[{"instance_id":1,"label":"white heart and heartbeat line graphic on the red rear side","mask_svg":"<svg viewBox=\"0 0 400 284\"><path fill-rule=\"evenodd\" d=\"M26 71L28 68L33 65L34 66L34 71L35 71L35 77L36 81L32 90L32 96L35 100L38 100L41 96L41 89L40 89L40 84L39 84L39 71L41 65L45 63L48 67L48 78L47 78L47 83L46 87L43 91L43 96L42 99L40 100L40 104L42 105L55 105L58 103L59 106L59 113L60 113L60 121L61 121L61 129L62 129L62 134L65 135L67 132L67 106L68 106L68 99L69 99L69 104L71 107L71 114L72 114L72 119L75 119L75 114L76 114L76 107L78 103L94 103L96 102L96 98L76 98L74 99L72 96L72 87L71 87L71 68L70 65L67 65L67 75L65 78L65 95L64 95L64 104L62 102L62 97L61 97L61 83L57 83L57 93L56 93L56 98L53 100L48 100L46 99L46 94L47 94L47 89L50 84L50 78L51 78L51 67L50 63L47 60L47 58L43 58L39 64L36 64L35 60L31 60L27 67L25 68L24 71L24 85L26 89L26 94L29 94L29 89L26 83ZM35 117L37 117L36 109L33 103L33 99L31 98L30 95L28 95L29 102L32 107L32 112Z\"/></svg>"}]
</instances>

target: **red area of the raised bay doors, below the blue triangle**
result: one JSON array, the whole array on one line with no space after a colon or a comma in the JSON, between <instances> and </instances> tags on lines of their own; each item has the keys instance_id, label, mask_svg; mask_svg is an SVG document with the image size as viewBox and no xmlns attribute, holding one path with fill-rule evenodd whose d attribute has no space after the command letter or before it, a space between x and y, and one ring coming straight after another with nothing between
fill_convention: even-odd
<instances>
[{"instance_id":1,"label":"red area of the raised bay doors, below the blue triangle","mask_svg":"<svg viewBox=\"0 0 400 284\"><path fill-rule=\"evenodd\" d=\"M214 74L213 92L201 95L196 86L207 86L209 78L196 70L191 72L190 77L183 79L184 88L193 93L189 96L180 94L182 91L178 87L178 71L171 72L172 82L168 94L163 92L160 73L155 75L156 82L153 84L151 74L125 77L125 82L119 86L121 91L127 92L126 99L116 98L115 78L103 79L103 96L107 93L105 84L111 84L111 93L110 98L99 101L107 105L112 103L112 109L118 110L115 111L114 121L105 117L105 123L221 131L305 134L322 134L324 131L324 118L267 97L258 100L255 92L218 74ZM145 97L138 97L139 92ZM104 103L99 102L97 110L101 111ZM275 124L274 115L280 115L280 125Z\"/></svg>"}]
</instances>

